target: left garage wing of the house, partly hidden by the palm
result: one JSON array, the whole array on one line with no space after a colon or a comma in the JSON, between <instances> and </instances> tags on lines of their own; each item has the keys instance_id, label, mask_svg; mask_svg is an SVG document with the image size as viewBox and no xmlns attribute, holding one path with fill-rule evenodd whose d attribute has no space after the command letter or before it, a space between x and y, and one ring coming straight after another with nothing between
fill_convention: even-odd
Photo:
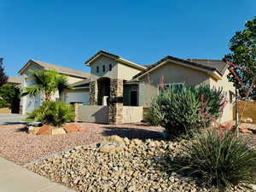
<instances>
[{"instance_id":1,"label":"left garage wing of the house, partly hidden by the palm","mask_svg":"<svg viewBox=\"0 0 256 192\"><path fill-rule=\"evenodd\" d=\"M61 74L65 74L68 77L68 83L69 84L75 84L78 82L81 82L85 79L90 78L89 73L84 73L78 70L74 70L67 67L61 67L56 66L53 64L49 64L42 61L35 61L30 60L27 61L26 65L20 69L20 75L23 77L22 87L28 87L32 85L32 82L28 79L30 75L30 70L43 70L43 69L55 69L57 72ZM83 96L81 96L80 93L83 93ZM53 96L53 100L59 100L61 99L64 102L81 102L84 104L88 103L89 95L88 91L83 88L76 88L69 92L64 92L62 96L58 96L57 94ZM22 97L22 113L30 113L33 109L38 108L42 104L43 96L36 96L36 97L30 97L30 96L24 96Z\"/></svg>"}]
</instances>

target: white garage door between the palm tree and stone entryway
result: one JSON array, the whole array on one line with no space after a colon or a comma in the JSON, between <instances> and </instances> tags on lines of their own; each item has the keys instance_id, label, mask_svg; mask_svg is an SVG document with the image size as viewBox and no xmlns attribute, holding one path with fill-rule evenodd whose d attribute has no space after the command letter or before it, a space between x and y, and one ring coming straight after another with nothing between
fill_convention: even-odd
<instances>
[{"instance_id":1,"label":"white garage door between the palm tree and stone entryway","mask_svg":"<svg viewBox=\"0 0 256 192\"><path fill-rule=\"evenodd\" d=\"M65 102L80 102L87 105L89 103L89 91L67 92Z\"/></svg>"}]
</instances>

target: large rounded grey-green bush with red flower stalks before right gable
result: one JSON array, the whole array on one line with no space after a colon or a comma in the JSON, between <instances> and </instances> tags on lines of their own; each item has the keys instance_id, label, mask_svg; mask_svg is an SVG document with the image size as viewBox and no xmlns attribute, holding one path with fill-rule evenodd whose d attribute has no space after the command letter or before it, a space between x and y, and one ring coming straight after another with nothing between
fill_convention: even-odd
<instances>
[{"instance_id":1,"label":"large rounded grey-green bush with red flower stalks before right gable","mask_svg":"<svg viewBox=\"0 0 256 192\"><path fill-rule=\"evenodd\" d=\"M222 90L207 85L167 89L152 99L146 119L151 125L163 126L174 137L188 135L209 125L212 117L218 118L224 97ZM200 112L210 116L202 116Z\"/></svg>"}]
</instances>

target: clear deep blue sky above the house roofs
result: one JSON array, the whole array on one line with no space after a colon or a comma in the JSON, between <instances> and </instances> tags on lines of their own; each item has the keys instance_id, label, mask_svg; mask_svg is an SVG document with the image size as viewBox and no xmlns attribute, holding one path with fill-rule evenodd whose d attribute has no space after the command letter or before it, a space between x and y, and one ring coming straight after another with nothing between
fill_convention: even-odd
<instances>
[{"instance_id":1,"label":"clear deep blue sky above the house roofs","mask_svg":"<svg viewBox=\"0 0 256 192\"><path fill-rule=\"evenodd\" d=\"M221 59L253 15L255 0L0 0L0 57L9 76L30 59L89 72L99 49L139 64Z\"/></svg>"}]
</instances>

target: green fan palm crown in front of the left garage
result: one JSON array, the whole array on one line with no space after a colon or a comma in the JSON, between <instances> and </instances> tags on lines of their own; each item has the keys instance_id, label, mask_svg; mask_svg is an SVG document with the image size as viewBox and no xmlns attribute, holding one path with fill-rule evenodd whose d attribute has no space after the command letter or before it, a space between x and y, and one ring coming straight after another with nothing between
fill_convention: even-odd
<instances>
[{"instance_id":1,"label":"green fan palm crown in front of the left garage","mask_svg":"<svg viewBox=\"0 0 256 192\"><path fill-rule=\"evenodd\" d=\"M57 91L61 95L63 90L71 90L72 87L67 83L67 76L61 75L55 70L30 71L30 80L34 85L26 87L21 96L44 95L44 101L50 102L51 96Z\"/></svg>"}]
</instances>

